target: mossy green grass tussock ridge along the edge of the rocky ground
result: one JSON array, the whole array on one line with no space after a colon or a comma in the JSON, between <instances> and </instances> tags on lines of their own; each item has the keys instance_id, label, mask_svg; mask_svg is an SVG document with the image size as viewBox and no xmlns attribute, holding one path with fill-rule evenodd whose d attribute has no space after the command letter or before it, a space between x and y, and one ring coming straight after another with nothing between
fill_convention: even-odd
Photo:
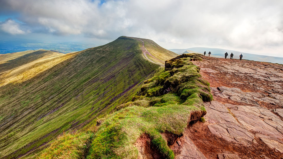
<instances>
[{"instance_id":1,"label":"mossy green grass tussock ridge along the edge of the rocky ground","mask_svg":"<svg viewBox=\"0 0 283 159\"><path fill-rule=\"evenodd\" d=\"M183 54L165 63L165 69L144 81L141 91L117 107L94 135L88 152L92 158L137 158L134 144L148 134L162 158L174 158L161 133L182 135L189 122L206 114L203 101L213 100L209 83L201 78L192 60L200 54Z\"/></svg>"}]
</instances>

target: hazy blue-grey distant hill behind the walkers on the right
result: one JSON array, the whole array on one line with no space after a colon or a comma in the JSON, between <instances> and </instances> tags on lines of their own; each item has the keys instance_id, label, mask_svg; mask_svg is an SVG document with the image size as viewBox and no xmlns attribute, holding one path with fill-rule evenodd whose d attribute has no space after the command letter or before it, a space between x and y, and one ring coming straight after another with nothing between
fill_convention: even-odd
<instances>
[{"instance_id":1,"label":"hazy blue-grey distant hill behind the walkers on the right","mask_svg":"<svg viewBox=\"0 0 283 159\"><path fill-rule=\"evenodd\" d=\"M228 52L229 58L230 58L231 52L233 52L234 59L239 59L239 55L243 54L243 59L283 64L283 57L249 54L249 53L244 53L244 52L239 52L239 51L234 51L234 50L227 50L227 49L208 48L208 47L192 47L188 49L169 49L169 50L177 54L182 54L186 50L191 50L192 52L200 52L201 54L203 54L204 51L206 51L206 54L208 54L208 52L210 51L212 53L211 56L213 55L212 57L214 56L224 57L225 52Z\"/></svg>"}]
</instances>

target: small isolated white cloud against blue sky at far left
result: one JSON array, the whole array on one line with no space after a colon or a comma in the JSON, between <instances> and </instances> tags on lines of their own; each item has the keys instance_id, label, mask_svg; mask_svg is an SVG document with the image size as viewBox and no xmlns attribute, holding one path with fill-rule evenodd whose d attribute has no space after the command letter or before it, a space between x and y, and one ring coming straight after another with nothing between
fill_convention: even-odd
<instances>
[{"instance_id":1,"label":"small isolated white cloud against blue sky at far left","mask_svg":"<svg viewBox=\"0 0 283 159\"><path fill-rule=\"evenodd\" d=\"M19 24L12 19L8 19L4 22L1 22L0 29L6 33L13 34L13 35L26 33L25 31L20 29Z\"/></svg>"}]
</instances>

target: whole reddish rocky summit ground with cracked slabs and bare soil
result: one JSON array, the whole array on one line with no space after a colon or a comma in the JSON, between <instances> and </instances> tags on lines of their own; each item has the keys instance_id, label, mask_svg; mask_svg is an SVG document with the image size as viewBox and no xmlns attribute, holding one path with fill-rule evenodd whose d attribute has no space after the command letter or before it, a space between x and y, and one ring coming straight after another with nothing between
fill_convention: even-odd
<instances>
[{"instance_id":1,"label":"whole reddish rocky summit ground with cracked slabs and bare soil","mask_svg":"<svg viewBox=\"0 0 283 159\"><path fill-rule=\"evenodd\" d=\"M283 158L283 65L203 57L210 82L205 122L171 146L176 158Z\"/></svg>"}]
</instances>

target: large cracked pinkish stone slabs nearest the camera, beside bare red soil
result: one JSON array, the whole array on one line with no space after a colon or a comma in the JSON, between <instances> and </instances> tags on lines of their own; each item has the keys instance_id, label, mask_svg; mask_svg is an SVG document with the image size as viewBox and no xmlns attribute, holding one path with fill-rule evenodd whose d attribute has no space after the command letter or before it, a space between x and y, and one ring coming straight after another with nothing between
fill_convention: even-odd
<instances>
[{"instance_id":1,"label":"large cracked pinkish stone slabs nearest the camera, beside bare red soil","mask_svg":"<svg viewBox=\"0 0 283 159\"><path fill-rule=\"evenodd\" d=\"M223 105L217 101L204 104L205 118L213 134L245 146L250 146L258 137L270 148L283 153L283 121L270 110L259 106Z\"/></svg>"}]
</instances>

